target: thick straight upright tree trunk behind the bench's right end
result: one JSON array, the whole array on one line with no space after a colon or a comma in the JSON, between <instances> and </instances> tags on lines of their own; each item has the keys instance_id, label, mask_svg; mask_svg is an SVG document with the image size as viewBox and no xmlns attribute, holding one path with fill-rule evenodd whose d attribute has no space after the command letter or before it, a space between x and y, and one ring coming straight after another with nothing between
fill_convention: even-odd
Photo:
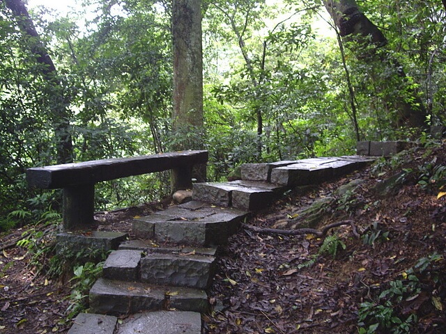
<instances>
[{"instance_id":1,"label":"thick straight upright tree trunk behind the bench's right end","mask_svg":"<svg viewBox=\"0 0 446 334\"><path fill-rule=\"evenodd\" d=\"M174 0L172 40L174 47L174 96L172 124L176 150L203 149L203 46L201 0ZM194 177L206 180L206 168ZM174 182L174 181L173 181Z\"/></svg>"}]
</instances>

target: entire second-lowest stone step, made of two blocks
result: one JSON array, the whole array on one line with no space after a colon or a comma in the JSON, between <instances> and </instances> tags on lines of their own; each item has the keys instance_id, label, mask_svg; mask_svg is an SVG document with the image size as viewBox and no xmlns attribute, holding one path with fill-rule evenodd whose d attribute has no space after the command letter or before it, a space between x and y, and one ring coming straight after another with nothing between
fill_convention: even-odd
<instances>
[{"instance_id":1,"label":"entire second-lowest stone step, made of two blocks","mask_svg":"<svg viewBox=\"0 0 446 334\"><path fill-rule=\"evenodd\" d=\"M99 278L90 289L90 312L129 315L145 310L206 312L208 296L203 289L167 287L141 282Z\"/></svg>"}]
</instances>

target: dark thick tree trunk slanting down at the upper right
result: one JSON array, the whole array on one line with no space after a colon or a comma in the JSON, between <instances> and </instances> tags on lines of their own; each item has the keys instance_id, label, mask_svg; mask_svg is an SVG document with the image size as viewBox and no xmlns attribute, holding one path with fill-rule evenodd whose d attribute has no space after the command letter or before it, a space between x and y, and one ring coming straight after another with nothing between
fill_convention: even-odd
<instances>
[{"instance_id":1,"label":"dark thick tree trunk slanting down at the upper right","mask_svg":"<svg viewBox=\"0 0 446 334\"><path fill-rule=\"evenodd\" d=\"M360 11L355 0L325 0L324 3L341 37L358 43L357 49L353 50L358 59L368 62L385 62L393 67L394 73L405 81L406 74L398 61L389 59L389 56L378 56L376 49L387 45L387 39L380 29ZM394 102L390 101L390 97L386 100L387 104ZM414 89L406 88L400 91L395 104L398 126L419 129L426 127L426 109Z\"/></svg>"}]
</instances>

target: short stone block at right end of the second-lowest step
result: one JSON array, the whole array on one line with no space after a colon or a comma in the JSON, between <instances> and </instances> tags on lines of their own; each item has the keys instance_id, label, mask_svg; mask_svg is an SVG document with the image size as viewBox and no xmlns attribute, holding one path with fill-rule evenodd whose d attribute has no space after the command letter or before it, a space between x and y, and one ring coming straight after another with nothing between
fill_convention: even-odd
<instances>
[{"instance_id":1,"label":"short stone block at right end of the second-lowest step","mask_svg":"<svg viewBox=\"0 0 446 334\"><path fill-rule=\"evenodd\" d=\"M172 287L166 293L170 308L183 311L204 313L209 310L208 295L203 289L190 287Z\"/></svg>"}]
</instances>

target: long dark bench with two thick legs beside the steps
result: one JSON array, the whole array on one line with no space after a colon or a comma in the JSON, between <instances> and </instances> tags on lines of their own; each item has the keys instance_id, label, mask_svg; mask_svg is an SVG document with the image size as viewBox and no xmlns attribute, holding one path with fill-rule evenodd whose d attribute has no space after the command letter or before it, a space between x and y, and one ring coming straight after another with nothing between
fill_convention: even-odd
<instances>
[{"instance_id":1,"label":"long dark bench with two thick legs beside the steps","mask_svg":"<svg viewBox=\"0 0 446 334\"><path fill-rule=\"evenodd\" d=\"M171 191L192 189L192 168L206 164L208 151L182 151L61 164L26 170L26 181L40 189L63 189L63 228L93 223L94 187L102 181L171 170Z\"/></svg>"}]
</instances>

